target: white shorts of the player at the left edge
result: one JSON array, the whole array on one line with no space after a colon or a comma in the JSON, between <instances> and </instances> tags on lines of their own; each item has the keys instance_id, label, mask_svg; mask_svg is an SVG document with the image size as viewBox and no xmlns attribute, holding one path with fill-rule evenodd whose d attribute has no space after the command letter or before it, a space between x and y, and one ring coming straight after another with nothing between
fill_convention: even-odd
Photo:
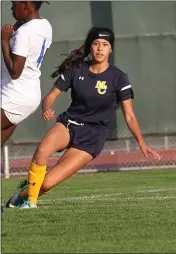
<instances>
[{"instance_id":1,"label":"white shorts of the player at the left edge","mask_svg":"<svg viewBox=\"0 0 176 254\"><path fill-rule=\"evenodd\" d=\"M7 107L3 104L1 108L4 110L4 113L9 119L9 121L17 125L24 119L26 119L28 116L30 116L32 113L34 113L37 110L38 106L39 105L23 106L9 102Z\"/></svg>"}]
</instances>

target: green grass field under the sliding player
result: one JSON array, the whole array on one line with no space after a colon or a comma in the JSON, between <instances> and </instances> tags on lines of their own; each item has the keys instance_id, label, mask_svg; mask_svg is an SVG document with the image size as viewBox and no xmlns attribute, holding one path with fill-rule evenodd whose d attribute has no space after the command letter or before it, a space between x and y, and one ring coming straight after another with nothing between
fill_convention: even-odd
<instances>
[{"instance_id":1,"label":"green grass field under the sliding player","mask_svg":"<svg viewBox=\"0 0 176 254\"><path fill-rule=\"evenodd\" d=\"M73 176L38 209L6 209L2 253L176 253L176 170Z\"/></svg>"}]
</instances>

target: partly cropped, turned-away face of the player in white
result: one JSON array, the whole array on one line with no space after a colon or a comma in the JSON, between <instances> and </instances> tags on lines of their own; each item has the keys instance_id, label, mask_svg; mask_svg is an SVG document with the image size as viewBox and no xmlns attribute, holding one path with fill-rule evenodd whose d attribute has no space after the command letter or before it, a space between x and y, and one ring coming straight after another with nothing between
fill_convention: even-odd
<instances>
[{"instance_id":1,"label":"partly cropped, turned-away face of the player in white","mask_svg":"<svg viewBox=\"0 0 176 254\"><path fill-rule=\"evenodd\" d=\"M12 15L16 20L24 21L26 18L26 4L21 1L12 1Z\"/></svg>"}]
</instances>

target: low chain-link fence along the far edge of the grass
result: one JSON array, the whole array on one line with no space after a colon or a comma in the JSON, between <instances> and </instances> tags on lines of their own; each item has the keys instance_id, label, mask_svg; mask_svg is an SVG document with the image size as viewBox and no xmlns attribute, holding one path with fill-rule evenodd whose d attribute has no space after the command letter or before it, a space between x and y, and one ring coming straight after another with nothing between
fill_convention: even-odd
<instances>
[{"instance_id":1,"label":"low chain-link fence along the far edge of the grass","mask_svg":"<svg viewBox=\"0 0 176 254\"><path fill-rule=\"evenodd\" d=\"M134 138L107 141L102 153L81 172L107 172L152 168L176 168L176 135L148 136L146 143L161 155L161 161L145 158ZM4 148L1 175L5 177L27 175L30 160L37 144L12 144ZM48 169L56 164L63 154L54 154L48 162Z\"/></svg>"}]
</instances>

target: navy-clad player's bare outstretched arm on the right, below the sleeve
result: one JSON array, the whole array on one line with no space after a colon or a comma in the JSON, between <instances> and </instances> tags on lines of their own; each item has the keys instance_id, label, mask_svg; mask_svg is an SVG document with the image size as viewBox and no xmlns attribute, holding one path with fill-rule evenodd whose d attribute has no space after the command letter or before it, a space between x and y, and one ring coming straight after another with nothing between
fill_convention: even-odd
<instances>
[{"instance_id":1,"label":"navy-clad player's bare outstretched arm on the right, below the sleeve","mask_svg":"<svg viewBox=\"0 0 176 254\"><path fill-rule=\"evenodd\" d=\"M132 100L129 99L129 100L121 101L121 108L122 108L122 112L123 112L125 121L127 123L127 126L129 130L131 131L131 133L133 134L133 136L136 138L139 144L139 147L141 151L143 152L143 154L145 155L145 157L148 157L148 154L151 154L156 160L160 160L161 159L160 155L145 144L145 141L143 139L143 136L139 127L139 123L136 119L136 116L133 110Z\"/></svg>"}]
</instances>

